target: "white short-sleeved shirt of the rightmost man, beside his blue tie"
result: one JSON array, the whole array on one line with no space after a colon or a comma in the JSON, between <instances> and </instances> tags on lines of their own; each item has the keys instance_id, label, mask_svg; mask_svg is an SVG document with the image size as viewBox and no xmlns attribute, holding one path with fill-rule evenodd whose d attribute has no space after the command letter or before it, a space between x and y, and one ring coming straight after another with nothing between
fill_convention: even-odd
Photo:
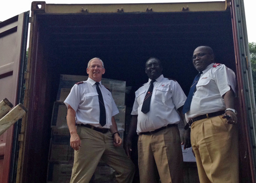
<instances>
[{"instance_id":1,"label":"white short-sleeved shirt of the rightmost man, beside his blue tie","mask_svg":"<svg viewBox=\"0 0 256 183\"><path fill-rule=\"evenodd\" d=\"M223 95L230 90L236 92L236 75L224 64L208 65L197 83L197 90L186 112L187 121L206 113L225 110Z\"/></svg>"}]
</instances>

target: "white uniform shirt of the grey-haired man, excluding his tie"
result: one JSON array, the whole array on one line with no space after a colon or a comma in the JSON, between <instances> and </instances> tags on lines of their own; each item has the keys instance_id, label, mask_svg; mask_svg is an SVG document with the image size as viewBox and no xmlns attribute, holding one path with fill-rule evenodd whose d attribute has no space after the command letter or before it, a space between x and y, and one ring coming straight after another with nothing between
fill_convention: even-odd
<instances>
[{"instance_id":1,"label":"white uniform shirt of the grey-haired man, excluding his tie","mask_svg":"<svg viewBox=\"0 0 256 183\"><path fill-rule=\"evenodd\" d=\"M87 81L81 84L75 84L64 101L67 107L70 105L76 111L77 124L90 124L95 127L101 127L99 124L99 99L95 83L94 80L88 78ZM110 128L112 126L112 116L115 116L119 111L110 91L101 82L99 83L106 110L104 128Z\"/></svg>"}]
</instances>

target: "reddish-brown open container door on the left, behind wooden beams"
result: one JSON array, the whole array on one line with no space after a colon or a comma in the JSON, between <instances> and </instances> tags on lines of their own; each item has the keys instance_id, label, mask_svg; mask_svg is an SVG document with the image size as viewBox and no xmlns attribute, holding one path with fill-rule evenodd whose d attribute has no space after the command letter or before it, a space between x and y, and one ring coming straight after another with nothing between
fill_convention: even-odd
<instances>
[{"instance_id":1,"label":"reddish-brown open container door on the left, behind wooden beams","mask_svg":"<svg viewBox=\"0 0 256 183\"><path fill-rule=\"evenodd\" d=\"M0 22L0 100L14 106L20 102L24 60L26 58L29 12ZM17 125L0 136L0 182L12 182L15 167ZM11 173L10 173L11 172Z\"/></svg>"}]
</instances>

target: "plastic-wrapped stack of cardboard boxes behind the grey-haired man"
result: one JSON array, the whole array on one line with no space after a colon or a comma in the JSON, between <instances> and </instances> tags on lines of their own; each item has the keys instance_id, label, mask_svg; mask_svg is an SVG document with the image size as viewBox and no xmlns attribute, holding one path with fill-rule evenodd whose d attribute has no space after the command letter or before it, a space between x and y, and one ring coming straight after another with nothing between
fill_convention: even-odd
<instances>
[{"instance_id":1,"label":"plastic-wrapped stack of cardboard boxes behind the grey-haired man","mask_svg":"<svg viewBox=\"0 0 256 183\"><path fill-rule=\"evenodd\" d=\"M67 107L63 103L73 85L86 81L88 76L60 75L57 100L52 113L52 138L48 163L48 183L69 182L74 161L74 150L70 147L70 133L67 125ZM102 78L101 83L109 88L119 113L115 116L120 137L123 140L125 129L125 81ZM100 162L91 183L115 181L115 171Z\"/></svg>"}]
</instances>

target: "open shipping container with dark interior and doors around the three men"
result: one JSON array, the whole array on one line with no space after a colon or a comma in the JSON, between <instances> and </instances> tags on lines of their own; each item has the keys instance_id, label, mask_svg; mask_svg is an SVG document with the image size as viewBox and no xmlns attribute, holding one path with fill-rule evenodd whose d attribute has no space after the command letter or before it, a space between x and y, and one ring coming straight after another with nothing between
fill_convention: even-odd
<instances>
[{"instance_id":1,"label":"open shipping container with dark interior and doors around the three men","mask_svg":"<svg viewBox=\"0 0 256 183\"><path fill-rule=\"evenodd\" d=\"M177 80L187 95L197 73L191 56L199 45L211 47L216 62L236 73L240 182L255 182L255 102L243 0L32 2L31 17L29 13L0 22L0 100L22 102L28 109L22 121L0 136L0 182L47 182L51 118L60 75L87 75L88 61L101 58L106 70L103 77L125 81L130 88L125 95L129 115L134 91L147 81L145 61L159 58L163 75ZM195 162L185 163L184 182L198 182Z\"/></svg>"}]
</instances>

